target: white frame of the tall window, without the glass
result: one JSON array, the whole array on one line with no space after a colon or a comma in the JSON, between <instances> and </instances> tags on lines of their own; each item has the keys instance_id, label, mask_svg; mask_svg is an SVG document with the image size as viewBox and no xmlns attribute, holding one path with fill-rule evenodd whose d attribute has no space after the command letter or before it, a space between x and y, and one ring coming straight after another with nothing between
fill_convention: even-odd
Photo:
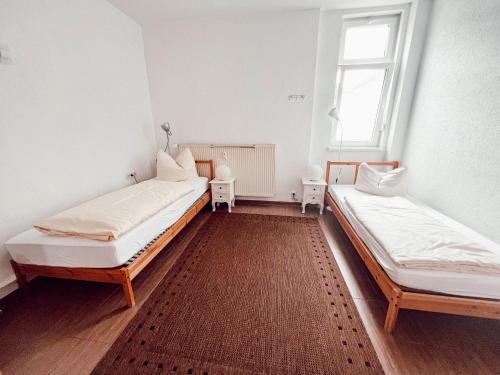
<instances>
[{"instance_id":1,"label":"white frame of the tall window, without the glass","mask_svg":"<svg viewBox=\"0 0 500 375\"><path fill-rule=\"evenodd\" d=\"M373 10L367 12L345 12L343 14L342 33L339 47L339 60L337 66L337 79L335 88L335 107L341 108L342 88L345 72L354 69L385 69L386 74L382 87L381 102L379 103L376 123L370 141L343 141L343 149L384 150L387 142L387 133L394 110L394 93L398 83L398 73L401 65L404 36L406 32L408 8L395 8ZM385 57L367 59L344 59L346 30L353 26L388 24L390 27L388 48ZM342 121L342 119L340 120ZM341 145L336 140L336 121L332 122L331 145L338 149ZM342 124L341 124L342 125Z\"/></svg>"}]
</instances>

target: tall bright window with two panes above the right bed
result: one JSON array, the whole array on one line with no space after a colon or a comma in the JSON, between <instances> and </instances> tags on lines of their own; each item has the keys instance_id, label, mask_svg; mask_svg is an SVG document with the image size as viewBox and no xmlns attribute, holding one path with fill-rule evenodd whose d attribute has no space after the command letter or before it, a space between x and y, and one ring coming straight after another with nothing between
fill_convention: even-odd
<instances>
[{"instance_id":1,"label":"tall bright window with two panes above the right bed","mask_svg":"<svg viewBox=\"0 0 500 375\"><path fill-rule=\"evenodd\" d=\"M342 28L332 144L380 147L390 120L400 14L345 18Z\"/></svg>"}]
</instances>

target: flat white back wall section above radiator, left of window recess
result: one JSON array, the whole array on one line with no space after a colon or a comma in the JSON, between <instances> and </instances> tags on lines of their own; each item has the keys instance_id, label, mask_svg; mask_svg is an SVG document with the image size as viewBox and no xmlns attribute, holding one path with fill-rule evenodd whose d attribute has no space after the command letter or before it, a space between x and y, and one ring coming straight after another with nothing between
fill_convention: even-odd
<instances>
[{"instance_id":1,"label":"flat white back wall section above radiator, left of window recess","mask_svg":"<svg viewBox=\"0 0 500 375\"><path fill-rule=\"evenodd\" d=\"M275 200L300 193L311 133L319 11L144 26L153 114L176 143L274 143ZM335 46L333 46L335 49ZM290 94L304 94L291 103Z\"/></svg>"}]
</instances>

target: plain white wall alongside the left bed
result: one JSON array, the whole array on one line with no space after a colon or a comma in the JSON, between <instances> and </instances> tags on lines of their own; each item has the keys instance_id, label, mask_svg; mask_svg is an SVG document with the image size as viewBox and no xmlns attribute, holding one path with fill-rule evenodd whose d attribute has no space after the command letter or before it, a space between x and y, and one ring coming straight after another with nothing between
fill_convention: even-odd
<instances>
[{"instance_id":1,"label":"plain white wall alongside the left bed","mask_svg":"<svg viewBox=\"0 0 500 375\"><path fill-rule=\"evenodd\" d=\"M152 174L140 26L103 0L3 0L0 244L33 222ZM0 287L14 280L0 247Z\"/></svg>"}]
</instances>

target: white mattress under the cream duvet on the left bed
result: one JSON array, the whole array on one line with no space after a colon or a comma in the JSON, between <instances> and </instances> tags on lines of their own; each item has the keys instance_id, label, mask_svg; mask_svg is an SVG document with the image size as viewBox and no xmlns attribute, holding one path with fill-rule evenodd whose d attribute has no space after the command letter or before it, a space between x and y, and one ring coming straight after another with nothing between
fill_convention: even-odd
<instances>
[{"instance_id":1,"label":"white mattress under the cream duvet on the left bed","mask_svg":"<svg viewBox=\"0 0 500 375\"><path fill-rule=\"evenodd\" d=\"M18 263L59 267L109 268L124 264L151 239L174 224L208 189L208 179L188 181L194 191L142 222L114 241L58 237L30 229L5 243Z\"/></svg>"}]
</instances>

